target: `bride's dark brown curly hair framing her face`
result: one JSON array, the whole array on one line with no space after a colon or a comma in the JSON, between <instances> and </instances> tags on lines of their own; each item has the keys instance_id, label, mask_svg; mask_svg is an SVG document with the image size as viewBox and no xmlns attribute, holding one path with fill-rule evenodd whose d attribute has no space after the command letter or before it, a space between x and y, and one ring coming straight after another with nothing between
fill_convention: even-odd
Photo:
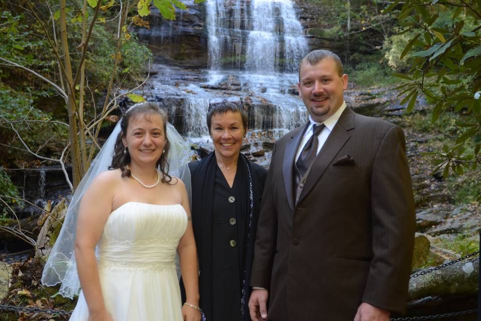
<instances>
[{"instance_id":1,"label":"bride's dark brown curly hair framing her face","mask_svg":"<svg viewBox=\"0 0 481 321\"><path fill-rule=\"evenodd\" d=\"M119 133L119 135L117 136L117 140L115 141L112 165L109 166L109 170L120 169L122 171L122 177L130 177L130 170L127 169L127 165L130 163L130 153L128 149L126 149L127 152L124 153L125 146L122 142L122 138L127 132L127 127L132 117L148 117L151 114L158 114L160 115L160 117L162 117L164 135L167 141L164 146L165 151L162 152L162 155L160 155L160 158L157 160L155 167L159 168L160 172L162 172L163 174L162 182L170 183L172 181L172 177L167 174L169 172L167 155L170 148L170 143L167 137L167 113L164 110L160 109L157 104L151 102L143 102L136 104L133 107L130 107L127 112L122 116L122 119L120 120L121 132Z\"/></svg>"}]
</instances>

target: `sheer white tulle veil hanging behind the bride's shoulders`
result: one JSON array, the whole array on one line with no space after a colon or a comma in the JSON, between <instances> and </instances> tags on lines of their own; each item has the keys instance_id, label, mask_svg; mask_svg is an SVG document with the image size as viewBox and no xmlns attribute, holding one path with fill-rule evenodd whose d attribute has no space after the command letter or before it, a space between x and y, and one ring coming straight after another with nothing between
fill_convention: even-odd
<instances>
[{"instance_id":1,"label":"sheer white tulle veil hanging behind the bride's shoulders","mask_svg":"<svg viewBox=\"0 0 481 321\"><path fill-rule=\"evenodd\" d=\"M131 108L134 107L135 105ZM75 190L67 209L62 229L42 273L42 283L47 286L61 283L59 293L65 297L73 298L80 292L80 281L74 252L80 201L92 181L101 172L107 171L108 167L112 164L115 142L118 134L121 132L120 123L121 121L119 120L109 138L105 141L93 160L87 174ZM175 130L173 125L167 123L166 127L166 135L170 143L170 149L167 155L167 163L169 164L168 174L170 176L180 177L190 195L190 173L187 167L191 154L190 146L182 136L180 136L177 130ZM96 251L96 256L98 259L98 251Z\"/></svg>"}]
</instances>

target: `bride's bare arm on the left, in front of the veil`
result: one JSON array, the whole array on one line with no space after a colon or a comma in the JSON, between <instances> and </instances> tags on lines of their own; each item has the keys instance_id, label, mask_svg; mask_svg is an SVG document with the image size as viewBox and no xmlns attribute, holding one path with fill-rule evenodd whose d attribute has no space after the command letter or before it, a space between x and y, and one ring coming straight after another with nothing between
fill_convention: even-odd
<instances>
[{"instance_id":1,"label":"bride's bare arm on the left, in front of the veil","mask_svg":"<svg viewBox=\"0 0 481 321\"><path fill-rule=\"evenodd\" d=\"M89 308L89 320L110 319L104 305L94 252L112 211L113 187L110 174L112 173L102 173L92 182L82 198L79 209L75 258L80 285Z\"/></svg>"}]
</instances>

